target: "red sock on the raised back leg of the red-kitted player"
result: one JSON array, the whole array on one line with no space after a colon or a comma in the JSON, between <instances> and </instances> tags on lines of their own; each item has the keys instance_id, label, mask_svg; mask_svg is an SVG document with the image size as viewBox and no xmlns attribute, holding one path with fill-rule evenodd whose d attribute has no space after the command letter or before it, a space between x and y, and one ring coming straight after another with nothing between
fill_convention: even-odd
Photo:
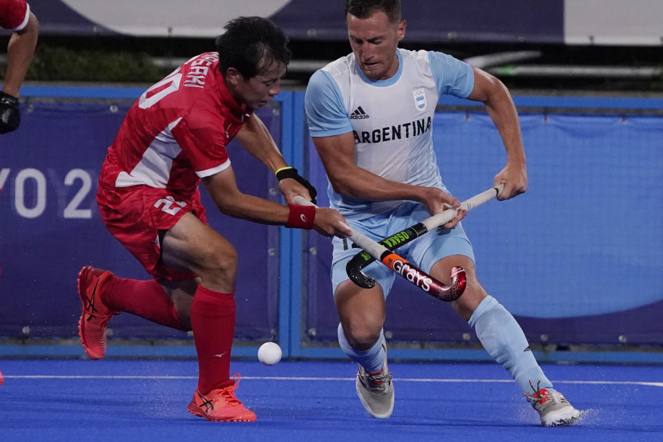
<instances>
[{"instance_id":1,"label":"red sock on the raised back leg of the red-kitted player","mask_svg":"<svg viewBox=\"0 0 663 442\"><path fill-rule=\"evenodd\" d=\"M183 332L191 330L175 310L171 298L155 280L139 281L113 276L104 285L102 301L111 310L126 311Z\"/></svg>"}]
</instances>

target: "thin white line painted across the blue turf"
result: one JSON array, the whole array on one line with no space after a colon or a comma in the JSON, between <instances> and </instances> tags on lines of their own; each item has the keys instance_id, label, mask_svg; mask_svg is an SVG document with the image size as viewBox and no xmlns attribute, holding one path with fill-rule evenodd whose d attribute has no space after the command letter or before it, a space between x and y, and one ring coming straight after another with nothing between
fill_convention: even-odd
<instances>
[{"instance_id":1,"label":"thin white line painted across the blue turf","mask_svg":"<svg viewBox=\"0 0 663 442\"><path fill-rule=\"evenodd\" d=\"M96 376L96 375L52 375L52 374L26 374L5 375L6 379L198 379L198 376ZM309 378L300 376L242 376L242 379L253 381L354 381L352 378ZM422 378L394 378L398 382L431 382L431 383L512 383L510 379L422 379ZM647 385L650 387L663 387L663 382L645 381L553 381L559 384L585 384L585 385Z\"/></svg>"}]
</instances>

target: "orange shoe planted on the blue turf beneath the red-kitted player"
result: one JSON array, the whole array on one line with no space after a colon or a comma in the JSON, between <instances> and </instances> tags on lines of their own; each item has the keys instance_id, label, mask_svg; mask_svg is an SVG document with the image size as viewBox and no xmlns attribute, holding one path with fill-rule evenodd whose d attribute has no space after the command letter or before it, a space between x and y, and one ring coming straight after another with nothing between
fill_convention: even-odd
<instances>
[{"instance_id":1,"label":"orange shoe planted on the blue turf beneath the red-kitted player","mask_svg":"<svg viewBox=\"0 0 663 442\"><path fill-rule=\"evenodd\" d=\"M208 421L255 422L256 413L244 407L235 397L240 383L240 374L235 374L235 383L224 388L201 394L198 389L189 403L189 412Z\"/></svg>"}]
</instances>

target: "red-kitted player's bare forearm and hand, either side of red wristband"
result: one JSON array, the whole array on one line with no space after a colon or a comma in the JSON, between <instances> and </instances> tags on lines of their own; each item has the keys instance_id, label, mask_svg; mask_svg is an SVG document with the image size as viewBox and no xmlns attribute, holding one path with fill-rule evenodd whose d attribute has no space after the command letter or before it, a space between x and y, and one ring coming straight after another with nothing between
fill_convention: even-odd
<instances>
[{"instance_id":1,"label":"red-kitted player's bare forearm and hand, either side of red wristband","mask_svg":"<svg viewBox=\"0 0 663 442\"><path fill-rule=\"evenodd\" d=\"M242 193L238 189L235 173L231 166L219 173L202 178L218 209L234 218L242 218L261 224L292 224L291 211L298 206L283 206L276 202ZM296 220L299 222L299 220ZM343 227L345 218L334 209L320 207L315 210L313 228L325 236L349 236L352 231Z\"/></svg>"}]
</instances>

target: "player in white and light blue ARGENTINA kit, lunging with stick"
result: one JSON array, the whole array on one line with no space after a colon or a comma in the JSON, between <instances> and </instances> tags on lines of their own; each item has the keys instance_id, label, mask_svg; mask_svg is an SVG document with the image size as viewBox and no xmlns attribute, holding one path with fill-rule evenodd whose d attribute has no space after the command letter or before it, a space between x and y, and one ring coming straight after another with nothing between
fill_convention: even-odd
<instances>
[{"instance_id":1,"label":"player in white and light blue ARGENTINA kit, lunging with stick","mask_svg":"<svg viewBox=\"0 0 663 442\"><path fill-rule=\"evenodd\" d=\"M432 121L441 95L483 102L497 128L506 166L494 176L499 200L527 190L526 157L515 106L507 88L483 70L442 52L398 48L406 23L398 0L347 0L345 20L352 53L318 70L307 86L309 132L329 178L329 200L353 231L380 240L458 207L443 184L433 149ZM471 171L471 164L466 165ZM459 210L437 233L406 244L398 253L442 282L450 270L467 272L465 293L451 302L488 353L515 379L539 412L542 425L568 425L579 418L529 351L515 318L479 284L472 245ZM374 262L365 271L372 289L348 279L347 262L357 250L334 238L332 286L340 317L338 342L358 364L356 390L369 414L387 418L394 384L383 334L385 298L395 273Z\"/></svg>"}]
</instances>

